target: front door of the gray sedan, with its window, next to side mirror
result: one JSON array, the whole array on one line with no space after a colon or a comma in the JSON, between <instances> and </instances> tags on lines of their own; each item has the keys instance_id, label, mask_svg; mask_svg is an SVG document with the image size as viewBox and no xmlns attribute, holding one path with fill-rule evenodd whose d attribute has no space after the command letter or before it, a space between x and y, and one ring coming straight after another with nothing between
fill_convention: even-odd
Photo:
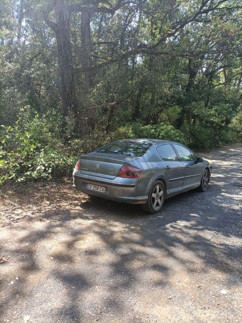
<instances>
[{"instance_id":1,"label":"front door of the gray sedan, with its window, next to side mirror","mask_svg":"<svg viewBox=\"0 0 242 323\"><path fill-rule=\"evenodd\" d=\"M184 166L186 168L184 188L189 188L198 185L200 183L203 172L203 165L201 165L202 163L195 163L195 160L197 158L195 154L188 148L179 144L173 144L173 146L179 154L180 160L184 163Z\"/></svg>"}]
</instances>

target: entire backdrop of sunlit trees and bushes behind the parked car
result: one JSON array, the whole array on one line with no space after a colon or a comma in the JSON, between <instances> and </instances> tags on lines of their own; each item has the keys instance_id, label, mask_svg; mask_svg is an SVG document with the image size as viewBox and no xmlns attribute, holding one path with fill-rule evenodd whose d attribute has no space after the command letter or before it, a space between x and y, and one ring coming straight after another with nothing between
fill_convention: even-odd
<instances>
[{"instance_id":1,"label":"entire backdrop of sunlit trees and bushes behind the parked car","mask_svg":"<svg viewBox=\"0 0 242 323\"><path fill-rule=\"evenodd\" d=\"M2 0L2 183L123 138L241 141L241 25L240 0Z\"/></svg>"}]
</instances>

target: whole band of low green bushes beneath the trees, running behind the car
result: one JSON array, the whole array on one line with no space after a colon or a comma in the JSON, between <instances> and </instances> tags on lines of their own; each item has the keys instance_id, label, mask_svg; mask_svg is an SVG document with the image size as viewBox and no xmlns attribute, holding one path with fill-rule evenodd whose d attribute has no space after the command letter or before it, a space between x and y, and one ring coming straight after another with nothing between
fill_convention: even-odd
<instances>
[{"instance_id":1,"label":"whole band of low green bushes beneath the trees, running behind the car","mask_svg":"<svg viewBox=\"0 0 242 323\"><path fill-rule=\"evenodd\" d=\"M222 108L220 114L217 106L209 114L205 107L204 111L201 108L196 114L194 110L200 120L187 120L180 130L167 123L144 126L135 122L116 126L108 133L95 129L83 138L73 138L71 121L63 127L63 118L55 111L40 115L26 106L20 110L14 126L0 128L0 185L8 180L24 182L71 175L77 159L75 156L120 139L166 139L184 143L195 150L212 149L226 142L241 142L242 115L233 118L227 126ZM231 116L232 113L229 118ZM62 131L66 134L64 138Z\"/></svg>"}]
</instances>

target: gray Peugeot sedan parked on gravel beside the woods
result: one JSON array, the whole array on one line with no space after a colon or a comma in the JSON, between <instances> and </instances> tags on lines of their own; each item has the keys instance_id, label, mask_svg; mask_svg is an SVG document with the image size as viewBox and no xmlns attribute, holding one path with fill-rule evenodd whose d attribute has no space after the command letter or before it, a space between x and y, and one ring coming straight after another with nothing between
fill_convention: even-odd
<instances>
[{"instance_id":1,"label":"gray Peugeot sedan parked on gravel beside the woods","mask_svg":"<svg viewBox=\"0 0 242 323\"><path fill-rule=\"evenodd\" d=\"M126 139L81 156L73 180L89 196L141 204L156 213L168 197L194 188L206 191L211 171L208 161L180 143Z\"/></svg>"}]
</instances>

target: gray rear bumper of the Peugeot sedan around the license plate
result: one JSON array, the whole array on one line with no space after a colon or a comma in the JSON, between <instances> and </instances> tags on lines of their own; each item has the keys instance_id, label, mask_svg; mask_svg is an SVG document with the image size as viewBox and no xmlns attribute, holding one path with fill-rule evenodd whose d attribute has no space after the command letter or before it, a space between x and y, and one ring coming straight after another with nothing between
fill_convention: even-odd
<instances>
[{"instance_id":1,"label":"gray rear bumper of the Peugeot sedan around the license plate","mask_svg":"<svg viewBox=\"0 0 242 323\"><path fill-rule=\"evenodd\" d=\"M90 176L76 174L73 174L73 183L73 186L76 189L85 194L101 197L112 201L131 204L144 204L148 199L148 196L136 196L136 183L106 181L104 179L90 178ZM106 193L86 189L86 183L105 186Z\"/></svg>"}]
</instances>

